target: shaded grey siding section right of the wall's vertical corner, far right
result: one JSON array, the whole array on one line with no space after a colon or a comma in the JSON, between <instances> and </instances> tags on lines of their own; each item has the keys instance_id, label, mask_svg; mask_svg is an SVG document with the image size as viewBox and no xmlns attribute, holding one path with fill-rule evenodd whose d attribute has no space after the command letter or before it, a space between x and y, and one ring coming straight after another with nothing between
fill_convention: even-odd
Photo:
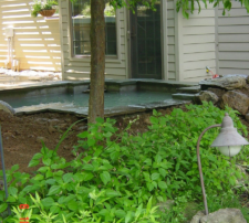
<instances>
[{"instance_id":1,"label":"shaded grey siding section right of the wall's vertical corner, far right","mask_svg":"<svg viewBox=\"0 0 249 223\"><path fill-rule=\"evenodd\" d=\"M217 10L218 74L249 75L249 14L239 2L222 15Z\"/></svg>"}]
</instances>

